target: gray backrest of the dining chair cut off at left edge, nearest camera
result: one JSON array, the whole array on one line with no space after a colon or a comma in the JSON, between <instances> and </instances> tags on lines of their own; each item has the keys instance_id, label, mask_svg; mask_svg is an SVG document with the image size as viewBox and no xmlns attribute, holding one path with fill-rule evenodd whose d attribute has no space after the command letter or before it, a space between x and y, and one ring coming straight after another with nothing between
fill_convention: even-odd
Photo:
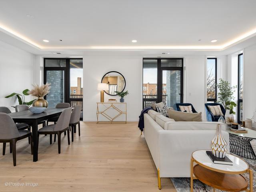
<instances>
[{"instance_id":1,"label":"gray backrest of the dining chair cut off at left edge, nearest camera","mask_svg":"<svg viewBox=\"0 0 256 192\"><path fill-rule=\"evenodd\" d=\"M6 113L0 113L0 139L13 139L19 136L19 131L12 118Z\"/></svg>"}]
</instances>

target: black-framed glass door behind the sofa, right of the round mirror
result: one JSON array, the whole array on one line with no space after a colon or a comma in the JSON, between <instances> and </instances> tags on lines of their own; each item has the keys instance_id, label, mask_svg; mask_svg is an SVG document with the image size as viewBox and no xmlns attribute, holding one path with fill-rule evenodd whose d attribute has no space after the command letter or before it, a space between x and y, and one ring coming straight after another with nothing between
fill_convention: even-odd
<instances>
[{"instance_id":1,"label":"black-framed glass door behind the sofa, right of the round mirror","mask_svg":"<svg viewBox=\"0 0 256 192\"><path fill-rule=\"evenodd\" d=\"M182 102L183 59L143 60L143 108L164 102L169 107Z\"/></svg>"}]
</instances>

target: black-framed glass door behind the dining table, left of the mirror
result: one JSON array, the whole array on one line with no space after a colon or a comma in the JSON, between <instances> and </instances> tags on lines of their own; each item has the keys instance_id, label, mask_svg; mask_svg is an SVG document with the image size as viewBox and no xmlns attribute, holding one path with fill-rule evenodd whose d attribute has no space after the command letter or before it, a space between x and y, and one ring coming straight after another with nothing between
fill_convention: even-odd
<instances>
[{"instance_id":1,"label":"black-framed glass door behind the dining table, left of the mirror","mask_svg":"<svg viewBox=\"0 0 256 192\"><path fill-rule=\"evenodd\" d=\"M50 93L45 99L53 108L61 102L70 103L71 107L83 106L83 60L80 58L45 58L44 84L50 83ZM81 110L81 119L83 116Z\"/></svg>"}]
</instances>

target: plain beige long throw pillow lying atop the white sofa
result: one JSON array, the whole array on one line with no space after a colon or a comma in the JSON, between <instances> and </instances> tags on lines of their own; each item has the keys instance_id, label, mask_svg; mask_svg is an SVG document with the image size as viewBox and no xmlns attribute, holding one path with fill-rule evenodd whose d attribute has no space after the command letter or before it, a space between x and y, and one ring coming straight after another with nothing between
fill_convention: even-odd
<instances>
[{"instance_id":1,"label":"plain beige long throw pillow lying atop the white sofa","mask_svg":"<svg viewBox=\"0 0 256 192\"><path fill-rule=\"evenodd\" d=\"M188 113L181 111L168 110L169 118L175 121L202 121L202 112Z\"/></svg>"}]
</instances>

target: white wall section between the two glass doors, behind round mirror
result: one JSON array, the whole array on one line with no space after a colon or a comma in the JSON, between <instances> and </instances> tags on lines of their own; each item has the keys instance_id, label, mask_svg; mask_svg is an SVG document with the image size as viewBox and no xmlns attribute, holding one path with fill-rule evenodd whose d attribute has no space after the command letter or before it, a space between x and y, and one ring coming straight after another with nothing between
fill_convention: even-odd
<instances>
[{"instance_id":1,"label":"white wall section between the two glass doors, behind round mirror","mask_svg":"<svg viewBox=\"0 0 256 192\"><path fill-rule=\"evenodd\" d=\"M127 120L137 121L142 110L142 57L141 56L84 56L83 58L84 121L96 121L96 102L100 102L100 91L97 90L102 76L109 71L120 72L125 80L125 90L129 95L127 102ZM109 96L104 94L105 102Z\"/></svg>"}]
</instances>

